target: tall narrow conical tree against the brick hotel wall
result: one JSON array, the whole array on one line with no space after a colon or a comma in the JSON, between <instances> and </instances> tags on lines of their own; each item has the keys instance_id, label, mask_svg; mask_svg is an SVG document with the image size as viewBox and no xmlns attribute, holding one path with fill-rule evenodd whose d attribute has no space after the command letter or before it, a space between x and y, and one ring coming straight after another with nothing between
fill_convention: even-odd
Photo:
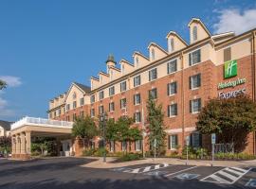
<instances>
[{"instance_id":1,"label":"tall narrow conical tree against the brick hotel wall","mask_svg":"<svg viewBox=\"0 0 256 189\"><path fill-rule=\"evenodd\" d=\"M164 152L165 147L164 113L162 112L162 105L156 105L152 95L147 101L147 121L150 131L149 143L153 145L156 139L155 151L159 155Z\"/></svg>"}]
</instances>

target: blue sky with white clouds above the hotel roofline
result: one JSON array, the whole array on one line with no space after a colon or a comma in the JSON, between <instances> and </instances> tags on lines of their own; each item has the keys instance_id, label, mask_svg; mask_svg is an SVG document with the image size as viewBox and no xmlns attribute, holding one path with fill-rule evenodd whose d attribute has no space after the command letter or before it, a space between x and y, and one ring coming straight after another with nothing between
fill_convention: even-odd
<instances>
[{"instance_id":1,"label":"blue sky with white clouds above the hotel roofline","mask_svg":"<svg viewBox=\"0 0 256 189\"><path fill-rule=\"evenodd\" d=\"M47 117L48 101L73 81L90 84L111 53L133 62L154 42L167 49L174 30L189 42L200 18L211 34L256 27L255 0L1 0L0 119Z\"/></svg>"}]
</instances>

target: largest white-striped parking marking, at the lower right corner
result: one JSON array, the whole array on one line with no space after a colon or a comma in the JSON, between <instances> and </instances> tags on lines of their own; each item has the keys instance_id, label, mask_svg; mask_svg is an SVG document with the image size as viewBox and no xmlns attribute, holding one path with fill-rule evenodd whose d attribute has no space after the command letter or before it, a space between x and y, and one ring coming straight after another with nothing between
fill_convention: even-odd
<instances>
[{"instance_id":1,"label":"largest white-striped parking marking, at the lower right corner","mask_svg":"<svg viewBox=\"0 0 256 189\"><path fill-rule=\"evenodd\" d=\"M251 168L243 169L239 167L226 167L200 181L233 184L237 180L240 180L244 175L246 175L250 169Z\"/></svg>"}]
</instances>

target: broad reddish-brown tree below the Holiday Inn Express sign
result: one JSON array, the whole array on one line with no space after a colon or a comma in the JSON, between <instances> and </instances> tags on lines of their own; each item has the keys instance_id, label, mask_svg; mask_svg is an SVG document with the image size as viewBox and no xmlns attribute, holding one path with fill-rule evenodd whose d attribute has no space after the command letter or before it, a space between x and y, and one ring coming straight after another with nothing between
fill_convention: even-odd
<instances>
[{"instance_id":1,"label":"broad reddish-brown tree below the Holiday Inn Express sign","mask_svg":"<svg viewBox=\"0 0 256 189\"><path fill-rule=\"evenodd\" d=\"M210 99L198 115L196 129L216 133L219 143L232 143L236 151L242 151L247 134L256 129L256 104L247 95Z\"/></svg>"}]
</instances>

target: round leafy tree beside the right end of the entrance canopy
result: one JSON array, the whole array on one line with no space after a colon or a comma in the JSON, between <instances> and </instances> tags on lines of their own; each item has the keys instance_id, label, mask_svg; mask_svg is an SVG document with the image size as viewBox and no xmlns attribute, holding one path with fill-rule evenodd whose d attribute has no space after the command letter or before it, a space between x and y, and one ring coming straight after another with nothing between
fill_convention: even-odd
<instances>
[{"instance_id":1,"label":"round leafy tree beside the right end of the entrance canopy","mask_svg":"<svg viewBox=\"0 0 256 189\"><path fill-rule=\"evenodd\" d=\"M88 115L86 117L77 117L72 129L72 135L82 139L83 149L85 149L85 142L92 140L97 136L99 130L96 127L95 121Z\"/></svg>"}]
</instances>

